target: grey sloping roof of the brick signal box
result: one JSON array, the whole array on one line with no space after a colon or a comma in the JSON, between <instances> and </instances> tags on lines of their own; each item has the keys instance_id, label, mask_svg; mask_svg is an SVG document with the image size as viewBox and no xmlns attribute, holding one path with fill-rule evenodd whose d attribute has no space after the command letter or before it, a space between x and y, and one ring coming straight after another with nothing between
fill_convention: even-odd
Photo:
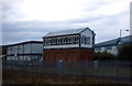
<instances>
[{"instance_id":1,"label":"grey sloping roof of the brick signal box","mask_svg":"<svg viewBox=\"0 0 132 86\"><path fill-rule=\"evenodd\" d=\"M56 32L48 32L43 37L58 36L58 35L68 35L68 34L77 34L77 33L80 33L81 31L84 31L85 29L89 29L89 28L81 28L81 29L73 29L73 30L63 30L63 31L56 31Z\"/></svg>"}]
</instances>

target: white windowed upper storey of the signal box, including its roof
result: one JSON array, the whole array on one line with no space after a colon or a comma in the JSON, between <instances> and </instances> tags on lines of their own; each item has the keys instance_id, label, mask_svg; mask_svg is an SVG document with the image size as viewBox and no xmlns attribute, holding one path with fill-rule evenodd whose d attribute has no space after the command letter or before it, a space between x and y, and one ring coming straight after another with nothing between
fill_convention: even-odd
<instances>
[{"instance_id":1,"label":"white windowed upper storey of the signal box, including its roof","mask_svg":"<svg viewBox=\"0 0 132 86\"><path fill-rule=\"evenodd\" d=\"M79 46L91 49L95 44L95 35L89 28L50 32L43 36L44 49Z\"/></svg>"}]
</instances>

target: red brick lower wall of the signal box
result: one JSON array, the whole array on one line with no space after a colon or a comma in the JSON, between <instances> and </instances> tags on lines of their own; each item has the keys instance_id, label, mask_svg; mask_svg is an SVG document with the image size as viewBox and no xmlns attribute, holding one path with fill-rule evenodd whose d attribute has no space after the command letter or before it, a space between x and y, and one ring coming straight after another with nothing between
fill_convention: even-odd
<instances>
[{"instance_id":1,"label":"red brick lower wall of the signal box","mask_svg":"<svg viewBox=\"0 0 132 86\"><path fill-rule=\"evenodd\" d=\"M92 51L88 49L65 49L65 50L44 50L44 62L66 62L92 61Z\"/></svg>"}]
</instances>

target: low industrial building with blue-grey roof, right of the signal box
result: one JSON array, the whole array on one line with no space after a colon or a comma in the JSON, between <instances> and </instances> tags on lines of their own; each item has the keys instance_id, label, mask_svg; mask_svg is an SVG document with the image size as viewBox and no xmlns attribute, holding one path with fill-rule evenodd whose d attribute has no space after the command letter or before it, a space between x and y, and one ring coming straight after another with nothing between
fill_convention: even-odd
<instances>
[{"instance_id":1,"label":"low industrial building with blue-grey roof, right of the signal box","mask_svg":"<svg viewBox=\"0 0 132 86\"><path fill-rule=\"evenodd\" d=\"M132 35L97 43L95 45L95 51L96 52L107 51L111 54L117 55L119 47L123 44L132 44Z\"/></svg>"}]
</instances>

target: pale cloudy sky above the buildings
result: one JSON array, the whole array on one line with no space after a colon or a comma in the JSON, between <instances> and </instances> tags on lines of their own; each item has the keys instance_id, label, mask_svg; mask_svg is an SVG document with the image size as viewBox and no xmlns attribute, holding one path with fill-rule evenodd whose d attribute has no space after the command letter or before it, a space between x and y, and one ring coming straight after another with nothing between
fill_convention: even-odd
<instances>
[{"instance_id":1,"label":"pale cloudy sky above the buildings","mask_svg":"<svg viewBox=\"0 0 132 86\"><path fill-rule=\"evenodd\" d=\"M51 31L90 28L96 43L130 29L131 0L2 0L2 44L42 41ZM122 36L130 32L122 31Z\"/></svg>"}]
</instances>

